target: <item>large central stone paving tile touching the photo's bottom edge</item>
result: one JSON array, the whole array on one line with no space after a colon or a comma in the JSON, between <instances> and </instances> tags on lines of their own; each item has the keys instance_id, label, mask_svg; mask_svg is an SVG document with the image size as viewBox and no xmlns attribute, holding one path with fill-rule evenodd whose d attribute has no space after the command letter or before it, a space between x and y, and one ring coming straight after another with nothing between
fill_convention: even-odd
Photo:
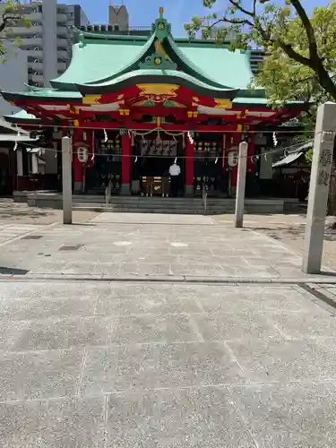
<instances>
[{"instance_id":1,"label":"large central stone paving tile touching the photo's bottom edge","mask_svg":"<svg viewBox=\"0 0 336 448\"><path fill-rule=\"evenodd\" d=\"M221 388L112 394L108 401L108 446L116 437L151 441L150 446L255 448L228 392ZM171 439L172 438L172 439ZM169 442L170 439L170 442ZM178 444L185 441L185 444ZM165 443L166 442L166 443ZM155 443L155 444L153 444ZM133 446L132 444L120 446Z\"/></svg>"}]
</instances>

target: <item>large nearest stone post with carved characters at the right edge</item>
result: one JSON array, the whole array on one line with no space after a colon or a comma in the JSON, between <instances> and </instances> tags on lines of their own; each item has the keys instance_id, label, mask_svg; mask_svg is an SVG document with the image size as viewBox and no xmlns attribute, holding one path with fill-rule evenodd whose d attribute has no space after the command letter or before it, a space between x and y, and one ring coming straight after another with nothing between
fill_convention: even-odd
<instances>
[{"instance_id":1,"label":"large nearest stone post with carved characters at the right edge","mask_svg":"<svg viewBox=\"0 0 336 448\"><path fill-rule=\"evenodd\" d=\"M309 184L306 237L302 271L321 271L325 217L332 171L332 152L336 131L336 103L327 102L317 109L313 162Z\"/></svg>"}]
</instances>

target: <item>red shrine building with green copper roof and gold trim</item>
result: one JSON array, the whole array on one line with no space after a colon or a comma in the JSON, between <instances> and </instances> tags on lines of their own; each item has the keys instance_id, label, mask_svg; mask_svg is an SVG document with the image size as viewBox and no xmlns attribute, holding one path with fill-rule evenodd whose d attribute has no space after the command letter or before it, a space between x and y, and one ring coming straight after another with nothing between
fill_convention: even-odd
<instances>
[{"instance_id":1,"label":"red shrine building with green copper roof and gold trim","mask_svg":"<svg viewBox=\"0 0 336 448\"><path fill-rule=\"evenodd\" d=\"M254 156L271 130L303 108L268 107L264 90L249 89L248 52L174 39L162 8L150 38L80 30L77 36L70 66L50 87L2 92L23 109L8 120L72 137L75 193L99 194L110 185L112 194L166 194L174 160L181 194L200 194L204 186L234 193L237 147L246 141L248 195L258 181ZM56 158L61 167L60 151Z\"/></svg>"}]
</instances>

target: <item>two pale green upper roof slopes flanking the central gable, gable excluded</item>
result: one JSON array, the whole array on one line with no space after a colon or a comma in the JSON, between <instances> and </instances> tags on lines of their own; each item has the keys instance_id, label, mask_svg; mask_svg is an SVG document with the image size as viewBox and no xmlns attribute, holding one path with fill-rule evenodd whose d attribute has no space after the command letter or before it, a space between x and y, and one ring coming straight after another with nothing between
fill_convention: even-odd
<instances>
[{"instance_id":1,"label":"two pale green upper roof slopes flanking the central gable, gable excluded","mask_svg":"<svg viewBox=\"0 0 336 448\"><path fill-rule=\"evenodd\" d=\"M152 38L151 38L152 39ZM169 44L174 43L169 39ZM124 40L98 40L98 43L76 44L73 47L73 60L69 68L51 83L59 89L73 90L74 84L98 83L113 79L127 69L134 69L152 42ZM189 74L201 82L228 89L247 88L252 79L252 72L247 53L230 52L226 48L197 47L185 43L180 47L174 43L173 49L183 63L182 70L189 69ZM170 56L170 55L169 55ZM66 85L68 84L68 85Z\"/></svg>"}]
</instances>

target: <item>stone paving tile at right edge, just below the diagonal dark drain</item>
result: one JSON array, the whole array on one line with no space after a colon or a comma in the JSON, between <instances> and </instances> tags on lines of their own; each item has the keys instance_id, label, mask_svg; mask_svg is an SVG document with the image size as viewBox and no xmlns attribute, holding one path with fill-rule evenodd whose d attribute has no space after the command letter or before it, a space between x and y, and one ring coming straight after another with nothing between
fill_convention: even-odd
<instances>
[{"instance_id":1,"label":"stone paving tile at right edge, just below the diagonal dark drain","mask_svg":"<svg viewBox=\"0 0 336 448\"><path fill-rule=\"evenodd\" d=\"M318 307L316 307L316 310ZM336 319L322 308L314 314L268 314L268 319L277 325L289 338L335 338Z\"/></svg>"}]
</instances>

